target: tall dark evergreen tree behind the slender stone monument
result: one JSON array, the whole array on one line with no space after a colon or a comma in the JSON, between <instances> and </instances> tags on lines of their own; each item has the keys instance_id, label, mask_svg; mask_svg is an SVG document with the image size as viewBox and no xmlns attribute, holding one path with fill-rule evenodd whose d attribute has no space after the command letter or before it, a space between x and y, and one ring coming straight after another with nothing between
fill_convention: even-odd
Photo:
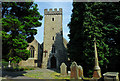
<instances>
[{"instance_id":1,"label":"tall dark evergreen tree behind the slender stone monument","mask_svg":"<svg viewBox=\"0 0 120 81\"><path fill-rule=\"evenodd\" d=\"M118 39L114 40L115 37L120 38L119 5L120 3L73 3L73 14L68 25L68 52L72 61L83 66L85 75L92 75L94 68L94 38L97 40L102 72L110 69L113 56L120 55L120 43L117 42Z\"/></svg>"}]
</instances>

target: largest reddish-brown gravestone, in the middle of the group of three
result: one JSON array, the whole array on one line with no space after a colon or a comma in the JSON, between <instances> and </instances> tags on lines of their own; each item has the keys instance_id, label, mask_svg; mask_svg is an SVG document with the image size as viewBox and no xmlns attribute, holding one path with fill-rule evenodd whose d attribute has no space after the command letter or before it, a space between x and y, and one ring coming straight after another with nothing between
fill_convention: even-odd
<instances>
[{"instance_id":1,"label":"largest reddish-brown gravestone, in the middle of the group of three","mask_svg":"<svg viewBox=\"0 0 120 81\"><path fill-rule=\"evenodd\" d=\"M77 65L76 62L72 62L71 66L70 66L70 69L71 69L70 78L71 79L79 79L79 76L78 76L78 65Z\"/></svg>"}]
</instances>

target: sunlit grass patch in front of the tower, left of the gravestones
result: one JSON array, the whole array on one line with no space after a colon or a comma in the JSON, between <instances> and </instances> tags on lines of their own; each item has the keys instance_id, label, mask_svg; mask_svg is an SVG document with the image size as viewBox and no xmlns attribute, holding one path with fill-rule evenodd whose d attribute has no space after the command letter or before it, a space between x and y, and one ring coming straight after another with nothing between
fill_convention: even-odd
<instances>
[{"instance_id":1,"label":"sunlit grass patch in front of the tower, left of the gravestones","mask_svg":"<svg viewBox=\"0 0 120 81\"><path fill-rule=\"evenodd\" d=\"M49 69L31 70L23 75L36 79L70 79L68 75L62 76L60 73Z\"/></svg>"}]
</instances>

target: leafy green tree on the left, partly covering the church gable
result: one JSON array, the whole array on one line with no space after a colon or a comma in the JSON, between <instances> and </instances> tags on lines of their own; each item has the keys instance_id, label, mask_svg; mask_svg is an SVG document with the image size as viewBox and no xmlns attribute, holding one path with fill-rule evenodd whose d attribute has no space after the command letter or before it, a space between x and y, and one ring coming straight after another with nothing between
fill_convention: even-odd
<instances>
[{"instance_id":1,"label":"leafy green tree on the left, partly covering the church gable","mask_svg":"<svg viewBox=\"0 0 120 81\"><path fill-rule=\"evenodd\" d=\"M2 3L2 47L3 58L19 62L29 57L28 42L37 34L35 27L41 26L42 16L33 2Z\"/></svg>"}]
</instances>

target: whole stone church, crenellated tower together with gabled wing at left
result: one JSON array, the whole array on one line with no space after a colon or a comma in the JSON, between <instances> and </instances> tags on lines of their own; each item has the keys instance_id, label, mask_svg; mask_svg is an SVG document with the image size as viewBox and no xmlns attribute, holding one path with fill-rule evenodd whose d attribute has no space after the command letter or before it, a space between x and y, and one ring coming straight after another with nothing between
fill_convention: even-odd
<instances>
[{"instance_id":1,"label":"whole stone church, crenellated tower together with gabled wing at left","mask_svg":"<svg viewBox=\"0 0 120 81\"><path fill-rule=\"evenodd\" d=\"M44 9L44 40L40 44L34 39L27 48L28 60L19 66L59 69L62 62L67 63L67 41L63 38L62 8Z\"/></svg>"}]
</instances>

